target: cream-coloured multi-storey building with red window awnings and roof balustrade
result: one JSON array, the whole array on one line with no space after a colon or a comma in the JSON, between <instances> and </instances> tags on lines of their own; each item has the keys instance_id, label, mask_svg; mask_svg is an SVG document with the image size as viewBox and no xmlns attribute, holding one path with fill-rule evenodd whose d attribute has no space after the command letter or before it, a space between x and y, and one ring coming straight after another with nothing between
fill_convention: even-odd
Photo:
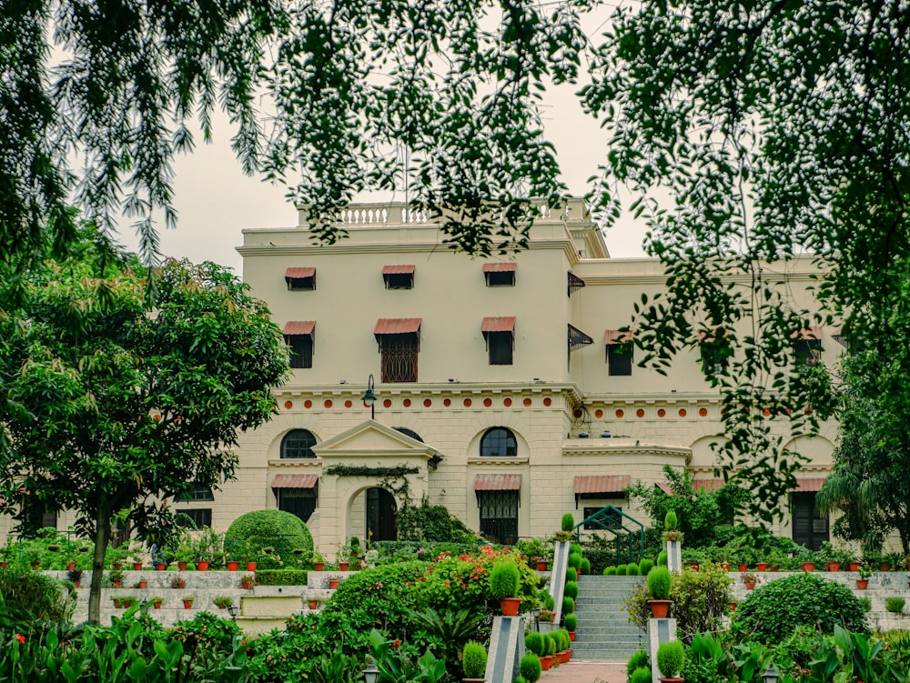
<instances>
[{"instance_id":1,"label":"cream-coloured multi-storey building with red window awnings and roof balustrade","mask_svg":"<svg viewBox=\"0 0 910 683\"><path fill-rule=\"evenodd\" d=\"M178 509L218 530L249 510L288 509L332 553L347 537L392 537L389 488L405 482L413 501L503 541L607 504L647 524L622 489L662 482L667 464L710 486L721 397L694 353L667 377L622 353L616 330L642 293L662 289L662 267L611 258L581 200L541 208L530 247L490 259L447 248L436 224L399 204L351 206L343 223L349 237L332 246L315 244L302 214L297 227L244 231L244 279L297 367L278 415L241 436L237 479ZM780 276L802 306L812 272L805 259ZM831 333L821 330L826 359ZM815 546L828 537L814 490L835 431L788 444L811 458L789 508L795 536ZM788 516L778 531L793 526Z\"/></svg>"}]
</instances>

